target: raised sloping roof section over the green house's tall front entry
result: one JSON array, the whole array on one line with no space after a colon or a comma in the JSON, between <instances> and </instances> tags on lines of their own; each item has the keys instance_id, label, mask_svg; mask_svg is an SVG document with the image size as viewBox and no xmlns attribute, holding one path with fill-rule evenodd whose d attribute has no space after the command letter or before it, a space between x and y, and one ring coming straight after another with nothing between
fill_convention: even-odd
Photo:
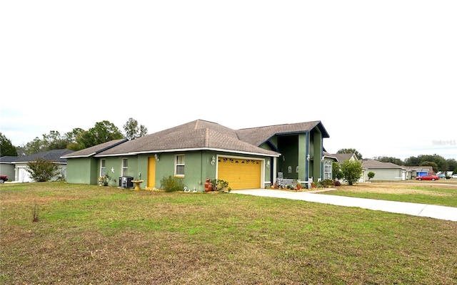
<instances>
[{"instance_id":1,"label":"raised sloping roof section over the green house's tall front entry","mask_svg":"<svg viewBox=\"0 0 457 285\"><path fill-rule=\"evenodd\" d=\"M306 133L313 128L321 130L322 138L330 138L321 121L316 120L305 123L283 124L283 125L269 125L266 127L246 128L236 131L238 138L251 145L261 145L266 142L273 135L289 134L289 133Z\"/></svg>"}]
</instances>

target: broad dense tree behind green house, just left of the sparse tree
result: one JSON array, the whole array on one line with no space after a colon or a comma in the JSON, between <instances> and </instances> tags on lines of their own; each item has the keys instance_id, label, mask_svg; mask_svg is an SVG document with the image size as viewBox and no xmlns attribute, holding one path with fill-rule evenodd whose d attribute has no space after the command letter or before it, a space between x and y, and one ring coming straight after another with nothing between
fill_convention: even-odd
<instances>
[{"instance_id":1,"label":"broad dense tree behind green house, just left of the sparse tree","mask_svg":"<svg viewBox=\"0 0 457 285\"><path fill-rule=\"evenodd\" d=\"M119 128L113 123L107 120L98 122L94 128L90 128L88 131L82 132L76 137L78 144L86 147L99 145L110 140L119 140L124 138Z\"/></svg>"}]
</instances>

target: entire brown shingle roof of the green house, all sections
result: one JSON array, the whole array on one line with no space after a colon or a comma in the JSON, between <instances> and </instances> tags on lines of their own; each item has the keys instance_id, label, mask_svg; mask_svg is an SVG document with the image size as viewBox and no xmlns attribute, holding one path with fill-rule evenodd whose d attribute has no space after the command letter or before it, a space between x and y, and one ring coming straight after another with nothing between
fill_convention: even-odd
<instances>
[{"instance_id":1,"label":"entire brown shingle roof of the green house, all sections","mask_svg":"<svg viewBox=\"0 0 457 285\"><path fill-rule=\"evenodd\" d=\"M194 120L135 140L105 142L79 150L71 155L64 155L64 157L89 157L91 155L104 157L184 150L221 150L278 156L280 155L278 152L263 149L259 145L273 135L306 133L313 128L318 128L323 138L329 138L321 121L233 130L218 123Z\"/></svg>"}]
</instances>

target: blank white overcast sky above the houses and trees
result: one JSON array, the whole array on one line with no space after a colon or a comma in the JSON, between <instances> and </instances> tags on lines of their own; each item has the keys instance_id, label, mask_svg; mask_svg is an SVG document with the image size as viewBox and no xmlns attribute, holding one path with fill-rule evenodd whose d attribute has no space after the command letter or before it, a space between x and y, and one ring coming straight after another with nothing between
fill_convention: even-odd
<instances>
[{"instance_id":1,"label":"blank white overcast sky above the houses and trees","mask_svg":"<svg viewBox=\"0 0 457 285\"><path fill-rule=\"evenodd\" d=\"M331 153L457 159L457 1L0 1L0 132L321 120Z\"/></svg>"}]
</instances>

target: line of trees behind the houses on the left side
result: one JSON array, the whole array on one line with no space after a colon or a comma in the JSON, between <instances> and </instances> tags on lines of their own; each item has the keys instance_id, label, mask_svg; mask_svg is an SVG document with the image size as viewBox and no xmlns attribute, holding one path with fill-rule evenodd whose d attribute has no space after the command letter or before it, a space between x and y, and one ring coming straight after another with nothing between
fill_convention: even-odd
<instances>
[{"instance_id":1,"label":"line of trees behind the houses on the left side","mask_svg":"<svg viewBox=\"0 0 457 285\"><path fill-rule=\"evenodd\" d=\"M147 135L147 133L148 129L144 125L140 125L134 118L129 118L124 124L124 133L114 123L104 120L95 123L94 127L89 128L89 130L74 128L64 134L51 130L48 134L43 134L41 138L36 137L31 142L21 146L12 145L11 140L0 133L0 152L1 156L18 156L34 155L47 150L84 150L84 148L109 142L110 140L122 138L134 140Z\"/></svg>"}]
</instances>

